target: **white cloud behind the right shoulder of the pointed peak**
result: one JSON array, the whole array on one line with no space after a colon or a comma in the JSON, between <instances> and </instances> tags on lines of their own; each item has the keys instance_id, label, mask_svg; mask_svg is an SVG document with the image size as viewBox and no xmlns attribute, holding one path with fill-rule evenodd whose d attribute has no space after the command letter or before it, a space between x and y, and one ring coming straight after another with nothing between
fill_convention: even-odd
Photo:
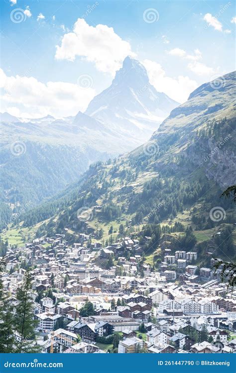
<instances>
[{"instance_id":1,"label":"white cloud behind the right shoulder of the pointed peak","mask_svg":"<svg viewBox=\"0 0 236 373\"><path fill-rule=\"evenodd\" d=\"M147 70L150 83L156 90L166 93L180 103L185 102L189 94L198 87L197 82L188 76L179 75L177 78L166 76L163 67L154 61L144 60L142 63Z\"/></svg>"}]
</instances>

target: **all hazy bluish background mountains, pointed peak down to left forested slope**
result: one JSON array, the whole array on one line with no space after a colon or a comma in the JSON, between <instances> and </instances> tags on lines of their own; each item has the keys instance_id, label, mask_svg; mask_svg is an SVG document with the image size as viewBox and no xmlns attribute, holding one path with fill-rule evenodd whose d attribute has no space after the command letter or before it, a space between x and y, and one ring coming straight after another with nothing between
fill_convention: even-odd
<instances>
[{"instance_id":1,"label":"all hazy bluish background mountains, pointed peak down to left forested slope","mask_svg":"<svg viewBox=\"0 0 236 373\"><path fill-rule=\"evenodd\" d=\"M165 117L176 105L149 84L138 61L126 58L112 86L94 98L86 113L57 119L1 114L0 202L18 212L52 197L91 163L147 140L160 123L156 114Z\"/></svg>"}]
</instances>

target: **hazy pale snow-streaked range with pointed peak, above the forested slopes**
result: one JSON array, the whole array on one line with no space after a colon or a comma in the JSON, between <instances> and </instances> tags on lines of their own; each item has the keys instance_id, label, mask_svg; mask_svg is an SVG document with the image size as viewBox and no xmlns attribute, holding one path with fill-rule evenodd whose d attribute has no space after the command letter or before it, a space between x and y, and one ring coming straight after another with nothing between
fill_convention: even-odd
<instances>
[{"instance_id":1,"label":"hazy pale snow-streaked range with pointed peak, above the forested slopes","mask_svg":"<svg viewBox=\"0 0 236 373\"><path fill-rule=\"evenodd\" d=\"M126 57L112 85L93 98L85 113L57 119L51 115L16 118L3 113L0 122L2 130L7 127L7 141L12 134L14 139L89 145L98 152L118 155L148 140L177 105L149 83L140 62Z\"/></svg>"}]
</instances>

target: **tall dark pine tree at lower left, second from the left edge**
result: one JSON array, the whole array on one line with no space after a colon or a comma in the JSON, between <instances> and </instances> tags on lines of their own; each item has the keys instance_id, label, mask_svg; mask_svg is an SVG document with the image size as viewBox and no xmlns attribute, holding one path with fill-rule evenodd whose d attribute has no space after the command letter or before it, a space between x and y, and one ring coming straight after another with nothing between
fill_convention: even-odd
<instances>
[{"instance_id":1,"label":"tall dark pine tree at lower left, second from the left edge","mask_svg":"<svg viewBox=\"0 0 236 373\"><path fill-rule=\"evenodd\" d=\"M39 352L39 347L35 346L34 328L37 321L33 319L33 297L31 295L32 278L30 272L26 272L23 284L16 291L18 304L15 307L15 330L19 335L16 342L16 353Z\"/></svg>"}]
</instances>

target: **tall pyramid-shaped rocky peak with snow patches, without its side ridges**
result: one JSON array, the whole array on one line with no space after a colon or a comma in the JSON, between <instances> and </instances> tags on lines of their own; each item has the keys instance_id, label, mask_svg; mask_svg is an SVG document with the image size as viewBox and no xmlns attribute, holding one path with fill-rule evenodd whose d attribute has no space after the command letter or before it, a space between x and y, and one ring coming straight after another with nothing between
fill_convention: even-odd
<instances>
[{"instance_id":1,"label":"tall pyramid-shaped rocky peak with snow patches, without its side ridges","mask_svg":"<svg viewBox=\"0 0 236 373\"><path fill-rule=\"evenodd\" d=\"M142 143L176 106L178 102L149 83L139 61L126 57L112 85L93 98L85 114L116 129L117 135L125 133L130 140L141 136Z\"/></svg>"}]
</instances>

